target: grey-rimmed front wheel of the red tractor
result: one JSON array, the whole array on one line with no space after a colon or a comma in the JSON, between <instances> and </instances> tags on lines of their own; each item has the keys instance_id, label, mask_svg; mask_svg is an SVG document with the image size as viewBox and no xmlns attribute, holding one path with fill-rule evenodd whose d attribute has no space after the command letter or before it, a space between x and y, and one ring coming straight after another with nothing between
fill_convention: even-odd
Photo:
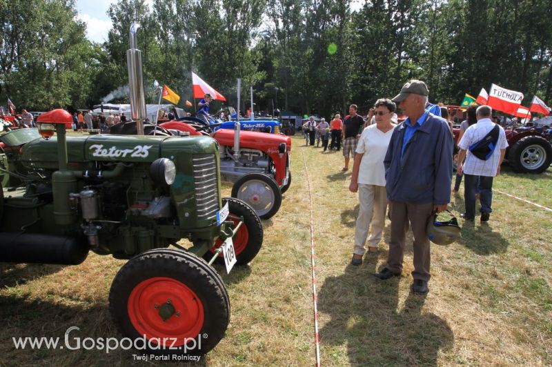
<instances>
[{"instance_id":1,"label":"grey-rimmed front wheel of the red tractor","mask_svg":"<svg viewBox=\"0 0 552 367\"><path fill-rule=\"evenodd\" d=\"M245 201L261 219L273 217L282 205L282 192L278 184L262 173L239 177L232 187L232 197Z\"/></svg>"}]
</instances>

